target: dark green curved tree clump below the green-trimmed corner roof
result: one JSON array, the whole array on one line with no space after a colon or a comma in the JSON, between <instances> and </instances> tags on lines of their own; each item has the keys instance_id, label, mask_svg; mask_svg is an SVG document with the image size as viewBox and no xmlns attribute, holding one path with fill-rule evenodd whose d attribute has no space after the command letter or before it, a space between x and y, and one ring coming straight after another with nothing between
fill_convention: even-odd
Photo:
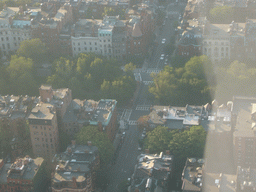
<instances>
[{"instance_id":1,"label":"dark green curved tree clump below the green-trimmed corner roof","mask_svg":"<svg viewBox=\"0 0 256 192\"><path fill-rule=\"evenodd\" d=\"M114 155L114 146L104 132L100 132L96 126L83 127L76 135L79 144L87 145L88 141L98 147L101 167L108 165Z\"/></svg>"}]
</instances>

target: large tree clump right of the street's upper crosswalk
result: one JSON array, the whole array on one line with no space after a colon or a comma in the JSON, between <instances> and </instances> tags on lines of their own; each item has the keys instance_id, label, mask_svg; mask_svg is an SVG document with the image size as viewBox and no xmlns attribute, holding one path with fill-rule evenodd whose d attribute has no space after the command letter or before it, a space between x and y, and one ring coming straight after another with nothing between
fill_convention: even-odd
<instances>
[{"instance_id":1,"label":"large tree clump right of the street's upper crosswalk","mask_svg":"<svg viewBox=\"0 0 256 192\"><path fill-rule=\"evenodd\" d=\"M193 57L183 68L166 66L157 75L153 74L149 92L163 105L204 104L211 101L214 77L206 56Z\"/></svg>"}]
</instances>

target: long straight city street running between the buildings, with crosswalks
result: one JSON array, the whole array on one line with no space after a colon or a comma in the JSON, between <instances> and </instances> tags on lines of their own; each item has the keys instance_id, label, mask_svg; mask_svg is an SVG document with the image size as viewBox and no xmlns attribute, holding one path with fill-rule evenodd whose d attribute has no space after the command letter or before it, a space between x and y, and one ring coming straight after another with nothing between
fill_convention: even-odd
<instances>
[{"instance_id":1,"label":"long straight city street running between the buildings, with crosswalks","mask_svg":"<svg viewBox=\"0 0 256 192\"><path fill-rule=\"evenodd\" d=\"M164 53L164 47L170 42L170 38L174 35L175 29L173 27L174 21L177 21L180 12L183 12L185 4L176 5L171 3L166 9L165 26L160 31L159 27L156 29L156 41L158 46L154 51L151 59L144 63L141 69L134 71L135 78L140 81L139 95L134 101L132 108L123 109L121 117L129 123L129 129L126 130L125 140L118 153L115 164L112 165L109 172L109 184L106 192L118 192L118 185L130 178L134 172L134 167L137 163L137 156L141 153L138 151L138 140L141 136L139 133L136 122L139 117L148 115L150 113L150 107L155 104L149 97L148 85L153 81L150 74L152 72L159 73L164 68L165 59L160 60L161 54ZM166 39L165 43L162 43L162 39ZM145 65L146 64L146 65Z\"/></svg>"}]
</instances>

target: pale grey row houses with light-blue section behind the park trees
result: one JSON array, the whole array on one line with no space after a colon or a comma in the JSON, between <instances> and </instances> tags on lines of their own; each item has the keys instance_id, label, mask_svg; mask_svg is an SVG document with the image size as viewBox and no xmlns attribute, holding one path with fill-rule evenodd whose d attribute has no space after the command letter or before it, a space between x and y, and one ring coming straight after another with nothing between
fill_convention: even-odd
<instances>
[{"instance_id":1,"label":"pale grey row houses with light-blue section behind the park trees","mask_svg":"<svg viewBox=\"0 0 256 192\"><path fill-rule=\"evenodd\" d=\"M84 52L123 59L126 54L126 21L119 16L105 16L103 20L81 19L75 24L71 37L73 56Z\"/></svg>"}]
</instances>

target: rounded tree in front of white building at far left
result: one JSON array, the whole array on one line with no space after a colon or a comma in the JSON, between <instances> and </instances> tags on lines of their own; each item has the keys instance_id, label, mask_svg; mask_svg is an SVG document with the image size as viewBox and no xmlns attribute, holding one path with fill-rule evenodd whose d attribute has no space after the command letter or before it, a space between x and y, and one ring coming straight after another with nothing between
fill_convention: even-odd
<instances>
[{"instance_id":1,"label":"rounded tree in front of white building at far left","mask_svg":"<svg viewBox=\"0 0 256 192\"><path fill-rule=\"evenodd\" d=\"M32 59L37 65L47 61L47 48L40 39L25 40L20 43L17 54Z\"/></svg>"}]
</instances>

